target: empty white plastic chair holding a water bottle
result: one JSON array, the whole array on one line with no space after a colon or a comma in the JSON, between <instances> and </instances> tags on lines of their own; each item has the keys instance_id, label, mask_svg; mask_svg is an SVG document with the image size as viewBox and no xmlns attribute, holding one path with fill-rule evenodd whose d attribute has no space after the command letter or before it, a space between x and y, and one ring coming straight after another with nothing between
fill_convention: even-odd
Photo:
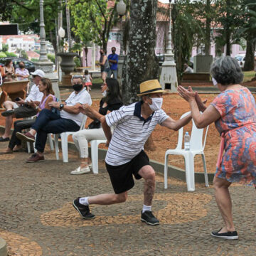
<instances>
[{"instance_id":1,"label":"empty white plastic chair holding a water bottle","mask_svg":"<svg viewBox=\"0 0 256 256\"><path fill-rule=\"evenodd\" d=\"M181 116L181 118L186 117L186 115L190 114L190 112L186 112ZM193 122L193 119L192 119ZM201 154L203 160L203 169L204 176L206 181L206 186L208 184L208 176L206 169L206 158L203 153L203 149L206 146L206 136L208 132L208 127L206 127L206 134L203 142L203 129L198 129L196 124L193 122L192 132L191 132L191 141L190 141L190 150L187 151L182 148L183 145L183 127L178 130L178 144L176 149L166 150L165 153L165 161L164 161L164 188L167 188L167 170L168 170L168 156L169 154L182 155L185 159L185 167L186 167L186 183L188 191L195 191L195 174L194 174L194 156L197 154Z\"/></svg>"}]
</instances>

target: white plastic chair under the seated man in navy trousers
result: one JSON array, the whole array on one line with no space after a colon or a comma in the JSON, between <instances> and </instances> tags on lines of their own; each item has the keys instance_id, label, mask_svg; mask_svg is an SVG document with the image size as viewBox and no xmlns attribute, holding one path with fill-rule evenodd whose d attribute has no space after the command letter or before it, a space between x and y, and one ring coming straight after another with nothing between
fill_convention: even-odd
<instances>
[{"instance_id":1,"label":"white plastic chair under the seated man in navy trousers","mask_svg":"<svg viewBox=\"0 0 256 256\"><path fill-rule=\"evenodd\" d=\"M86 122L87 116L84 114L82 117L82 124L80 126L81 129L85 129L85 122ZM61 149L63 152L63 162L68 163L68 136L73 135L75 132L62 132L61 134L54 134L54 142L55 142L55 154L56 159L59 160L58 155L58 137L60 135L61 138Z\"/></svg>"}]
</instances>

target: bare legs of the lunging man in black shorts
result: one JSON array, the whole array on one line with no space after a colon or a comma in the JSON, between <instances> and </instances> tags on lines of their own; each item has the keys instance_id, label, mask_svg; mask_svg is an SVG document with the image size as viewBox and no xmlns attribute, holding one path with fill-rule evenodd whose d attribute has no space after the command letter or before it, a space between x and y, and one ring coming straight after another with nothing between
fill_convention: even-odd
<instances>
[{"instance_id":1,"label":"bare legs of the lunging man in black shorts","mask_svg":"<svg viewBox=\"0 0 256 256\"><path fill-rule=\"evenodd\" d=\"M143 166L139 170L139 175L142 176L145 180L144 184L144 205L151 206L154 189L155 189L155 172L151 166ZM114 203L123 203L127 200L128 193L123 192L119 194L115 193L106 193L97 196L90 196L88 202L90 204L99 204L99 205L111 205Z\"/></svg>"}]
</instances>

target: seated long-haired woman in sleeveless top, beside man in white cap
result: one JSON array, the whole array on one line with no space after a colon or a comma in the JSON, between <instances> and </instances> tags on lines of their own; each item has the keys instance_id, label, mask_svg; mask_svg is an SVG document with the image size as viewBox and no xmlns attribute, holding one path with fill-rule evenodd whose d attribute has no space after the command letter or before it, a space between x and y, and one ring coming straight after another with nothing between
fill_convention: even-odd
<instances>
[{"instance_id":1,"label":"seated long-haired woman in sleeveless top, beside man in white cap","mask_svg":"<svg viewBox=\"0 0 256 256\"><path fill-rule=\"evenodd\" d=\"M48 103L56 100L50 79L42 78L42 80L39 82L38 87L40 92L43 92L43 98L40 104L37 106L36 103L33 101L27 102L28 105L33 107L33 109L37 110L38 113L36 114L36 116L38 116L38 114L40 114L41 110L43 110L44 108L51 110L51 107L48 106ZM36 119L18 120L14 122L14 132L11 134L9 145L7 149L1 151L0 154L11 154L14 151L19 151L21 149L21 141L16 137L16 133L21 132L23 129L30 128L35 122Z\"/></svg>"}]
</instances>

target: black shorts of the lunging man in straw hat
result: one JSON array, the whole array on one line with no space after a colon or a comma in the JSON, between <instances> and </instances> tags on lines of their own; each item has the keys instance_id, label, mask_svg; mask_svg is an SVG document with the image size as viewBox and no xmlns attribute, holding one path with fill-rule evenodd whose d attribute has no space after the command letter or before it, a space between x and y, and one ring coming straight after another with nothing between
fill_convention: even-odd
<instances>
[{"instance_id":1,"label":"black shorts of the lunging man in straw hat","mask_svg":"<svg viewBox=\"0 0 256 256\"><path fill-rule=\"evenodd\" d=\"M129 189L134 186L134 179L132 175L134 175L136 179L142 178L138 172L146 165L150 164L149 157L146 155L144 150L140 151L137 156L126 164L111 166L106 163L107 172L110 175L114 193L118 194L129 191Z\"/></svg>"}]
</instances>

